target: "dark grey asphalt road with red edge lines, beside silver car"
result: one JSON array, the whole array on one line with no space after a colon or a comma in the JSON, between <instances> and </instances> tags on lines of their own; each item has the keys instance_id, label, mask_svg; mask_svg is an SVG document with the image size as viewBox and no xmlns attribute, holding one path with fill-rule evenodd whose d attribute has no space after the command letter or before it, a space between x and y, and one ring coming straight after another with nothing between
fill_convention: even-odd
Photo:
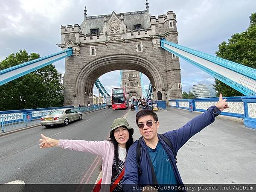
<instances>
[{"instance_id":1,"label":"dark grey asphalt road with red edge lines, beside silver car","mask_svg":"<svg viewBox=\"0 0 256 192\"><path fill-rule=\"evenodd\" d=\"M0 137L0 183L22 180L29 184L95 183L101 158L94 154L39 148L40 134L54 139L106 140L113 119L128 110L103 109L86 113L81 121L66 127L38 126Z\"/></svg>"}]
</instances>

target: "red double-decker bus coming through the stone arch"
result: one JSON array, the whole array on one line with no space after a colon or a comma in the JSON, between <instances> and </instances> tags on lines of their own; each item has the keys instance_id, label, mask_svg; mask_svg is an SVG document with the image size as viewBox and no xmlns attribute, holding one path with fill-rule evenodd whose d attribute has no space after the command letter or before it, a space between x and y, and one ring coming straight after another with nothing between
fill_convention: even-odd
<instances>
[{"instance_id":1,"label":"red double-decker bus coming through the stone arch","mask_svg":"<svg viewBox=\"0 0 256 192\"><path fill-rule=\"evenodd\" d=\"M129 96L125 87L112 89L112 109L126 109L129 107Z\"/></svg>"}]
</instances>

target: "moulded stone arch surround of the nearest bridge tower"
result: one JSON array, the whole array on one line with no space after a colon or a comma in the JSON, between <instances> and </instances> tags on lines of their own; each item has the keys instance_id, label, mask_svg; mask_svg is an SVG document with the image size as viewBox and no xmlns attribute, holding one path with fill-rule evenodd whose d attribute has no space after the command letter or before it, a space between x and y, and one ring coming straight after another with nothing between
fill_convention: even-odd
<instances>
[{"instance_id":1,"label":"moulded stone arch surround of the nearest bridge tower","mask_svg":"<svg viewBox=\"0 0 256 192\"><path fill-rule=\"evenodd\" d=\"M74 81L74 103L87 103L92 98L93 86L100 76L113 70L137 70L144 73L154 88L154 91L164 87L163 77L158 68L147 59L136 55L108 55L97 58L83 66ZM67 103L68 104L68 103Z\"/></svg>"}]
</instances>

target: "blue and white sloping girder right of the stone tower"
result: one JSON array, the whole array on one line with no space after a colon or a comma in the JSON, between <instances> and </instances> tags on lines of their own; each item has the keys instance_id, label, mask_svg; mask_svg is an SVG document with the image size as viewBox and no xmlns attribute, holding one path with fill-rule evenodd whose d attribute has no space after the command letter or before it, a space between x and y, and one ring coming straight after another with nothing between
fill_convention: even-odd
<instances>
[{"instance_id":1,"label":"blue and white sloping girder right of the stone tower","mask_svg":"<svg viewBox=\"0 0 256 192\"><path fill-rule=\"evenodd\" d=\"M256 94L256 70L253 68L163 39L160 40L160 47L183 58L244 95Z\"/></svg>"}]
</instances>

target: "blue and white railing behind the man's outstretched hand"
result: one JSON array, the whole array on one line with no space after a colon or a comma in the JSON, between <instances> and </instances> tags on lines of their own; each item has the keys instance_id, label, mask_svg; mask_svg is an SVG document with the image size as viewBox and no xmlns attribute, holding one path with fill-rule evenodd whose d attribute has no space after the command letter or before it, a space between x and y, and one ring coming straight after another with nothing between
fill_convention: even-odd
<instances>
[{"instance_id":1,"label":"blue and white railing behind the man's outstretched hand","mask_svg":"<svg viewBox=\"0 0 256 192\"><path fill-rule=\"evenodd\" d=\"M221 115L244 119L244 126L256 129L256 96L224 97L223 99L225 98L230 108L225 109ZM169 106L204 112L210 106L215 105L218 99L170 99Z\"/></svg>"}]
</instances>

